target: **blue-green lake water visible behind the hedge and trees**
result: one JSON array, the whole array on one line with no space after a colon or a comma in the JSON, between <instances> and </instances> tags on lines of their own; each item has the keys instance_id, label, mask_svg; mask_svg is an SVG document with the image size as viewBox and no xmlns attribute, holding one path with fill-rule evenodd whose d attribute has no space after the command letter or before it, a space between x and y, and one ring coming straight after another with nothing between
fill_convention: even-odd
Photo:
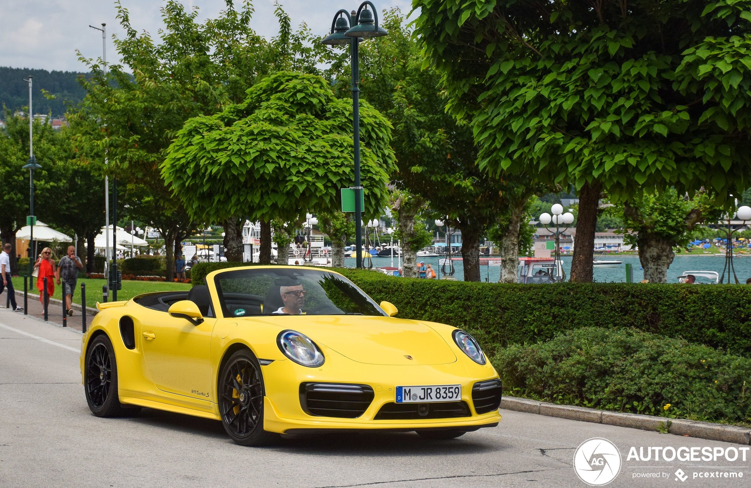
<instances>
[{"instance_id":1,"label":"blue-green lake water visible behind the hedge and trees","mask_svg":"<svg viewBox=\"0 0 751 488\"><path fill-rule=\"evenodd\" d=\"M440 266L438 264L439 258L418 258L420 261L425 261L425 264L433 266L433 270L438 270ZM571 272L571 256L563 256L563 269L566 270L566 276L570 276ZM634 267L634 281L640 282L644 279L644 271L641 270L641 264L639 263L639 257L635 255L608 255L605 257L598 257L597 260L601 261L623 261L615 268L595 268L595 281L596 282L626 282L626 263L632 264ZM373 267L391 266L391 258L372 258ZM398 258L394 258L394 267L399 266ZM354 258L346 258L345 266L354 268ZM725 264L725 255L676 255L673 263L668 270L668 283L677 283L677 277L684 271L716 271L722 274L722 266ZM741 284L746 283L747 278L751 278L751 256L743 256L742 258L734 258L733 266L735 273L738 277L738 281ZM454 277L458 280L464 279L464 267L461 261L454 261ZM480 266L480 273L482 281L497 282L501 275L501 268L498 266ZM731 281L732 276L731 276ZM725 282L727 282L727 275L725 275Z\"/></svg>"}]
</instances>

